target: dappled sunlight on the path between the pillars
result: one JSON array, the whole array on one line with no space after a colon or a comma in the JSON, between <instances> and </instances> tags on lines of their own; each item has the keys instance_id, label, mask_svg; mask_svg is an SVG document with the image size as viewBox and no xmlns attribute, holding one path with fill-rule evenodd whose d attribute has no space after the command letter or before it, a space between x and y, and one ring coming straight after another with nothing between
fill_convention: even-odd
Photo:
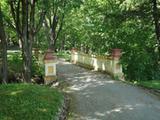
<instances>
[{"instance_id":1,"label":"dappled sunlight on the path between the pillars","mask_svg":"<svg viewBox=\"0 0 160 120\"><path fill-rule=\"evenodd\" d=\"M59 66L68 67L67 72L63 72L63 71L61 71L61 73L58 72L58 76L60 76L62 79L66 78L66 81L71 80L73 83L73 85L70 84L69 89L67 89L66 92L68 93L71 93L74 91L75 92L82 91L87 88L95 88L99 86L105 86L106 84L115 83L115 81L111 80L110 77L106 74L100 74L100 73L97 74L96 72L89 72L88 70L85 70L78 66L74 66L74 67L76 67L79 70L79 72L74 71L73 66L70 66L70 63L68 62L65 62L64 64L59 64ZM102 80L99 81L99 79L102 79Z\"/></svg>"}]
</instances>

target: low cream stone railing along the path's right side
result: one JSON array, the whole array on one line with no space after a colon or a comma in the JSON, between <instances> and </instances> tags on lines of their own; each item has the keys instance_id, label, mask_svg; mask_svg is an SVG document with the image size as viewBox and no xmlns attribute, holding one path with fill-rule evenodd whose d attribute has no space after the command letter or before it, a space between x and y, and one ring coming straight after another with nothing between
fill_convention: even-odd
<instances>
[{"instance_id":1,"label":"low cream stone railing along the path's right side","mask_svg":"<svg viewBox=\"0 0 160 120\"><path fill-rule=\"evenodd\" d=\"M71 62L73 64L79 64L95 71L105 71L114 78L123 79L122 65L119 63L119 58L116 55L106 57L88 55L77 51L71 52Z\"/></svg>"}]
</instances>

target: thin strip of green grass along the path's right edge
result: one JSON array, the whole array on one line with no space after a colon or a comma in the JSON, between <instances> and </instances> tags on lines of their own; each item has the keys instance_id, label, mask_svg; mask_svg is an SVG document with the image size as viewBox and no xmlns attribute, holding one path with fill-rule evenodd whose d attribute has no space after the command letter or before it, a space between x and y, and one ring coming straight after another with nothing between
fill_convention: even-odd
<instances>
[{"instance_id":1,"label":"thin strip of green grass along the path's right edge","mask_svg":"<svg viewBox=\"0 0 160 120\"><path fill-rule=\"evenodd\" d=\"M134 84L139 85L139 86L143 86L146 88L160 89L160 80L135 81Z\"/></svg>"}]
</instances>

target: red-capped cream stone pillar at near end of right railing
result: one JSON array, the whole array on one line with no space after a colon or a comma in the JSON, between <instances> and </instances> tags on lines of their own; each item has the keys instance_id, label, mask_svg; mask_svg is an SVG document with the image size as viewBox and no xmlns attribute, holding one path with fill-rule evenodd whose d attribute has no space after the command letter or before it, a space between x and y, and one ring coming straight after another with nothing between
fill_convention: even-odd
<instances>
[{"instance_id":1,"label":"red-capped cream stone pillar at near end of right railing","mask_svg":"<svg viewBox=\"0 0 160 120\"><path fill-rule=\"evenodd\" d=\"M121 49L112 50L112 72L113 76L118 79L123 79L122 65L120 64L120 57L122 55Z\"/></svg>"}]
</instances>

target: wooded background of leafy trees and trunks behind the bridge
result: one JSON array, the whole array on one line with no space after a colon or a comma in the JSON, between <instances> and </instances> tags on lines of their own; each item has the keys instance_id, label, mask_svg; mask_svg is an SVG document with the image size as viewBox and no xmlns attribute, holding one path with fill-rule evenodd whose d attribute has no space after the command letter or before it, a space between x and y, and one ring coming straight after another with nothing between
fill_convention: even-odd
<instances>
[{"instance_id":1,"label":"wooded background of leafy trees and trunks behind the bridge","mask_svg":"<svg viewBox=\"0 0 160 120\"><path fill-rule=\"evenodd\" d=\"M159 0L1 0L2 82L7 49L20 49L23 79L31 80L32 49L72 47L89 54L123 51L127 80L160 79Z\"/></svg>"}]
</instances>

